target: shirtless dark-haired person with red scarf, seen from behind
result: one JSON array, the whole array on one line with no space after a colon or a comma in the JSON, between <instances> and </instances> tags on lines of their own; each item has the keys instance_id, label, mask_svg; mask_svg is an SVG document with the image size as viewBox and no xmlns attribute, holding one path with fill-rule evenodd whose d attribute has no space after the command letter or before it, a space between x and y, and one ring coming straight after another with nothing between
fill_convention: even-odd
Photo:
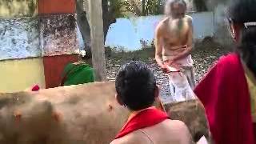
<instances>
[{"instance_id":1,"label":"shirtless dark-haired person with red scarf, seen from behind","mask_svg":"<svg viewBox=\"0 0 256 144\"><path fill-rule=\"evenodd\" d=\"M184 122L170 120L153 103L158 86L152 71L142 62L130 62L119 70L116 81L118 103L130 110L130 117L110 144L191 144Z\"/></svg>"}]
</instances>

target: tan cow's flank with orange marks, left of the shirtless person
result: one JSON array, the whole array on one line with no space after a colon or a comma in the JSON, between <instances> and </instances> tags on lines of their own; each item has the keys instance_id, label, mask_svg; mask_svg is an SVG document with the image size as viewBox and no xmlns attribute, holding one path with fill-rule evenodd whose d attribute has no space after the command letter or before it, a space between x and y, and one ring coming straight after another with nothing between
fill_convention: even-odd
<instances>
[{"instance_id":1,"label":"tan cow's flank with orange marks, left of the shirtless person","mask_svg":"<svg viewBox=\"0 0 256 144\"><path fill-rule=\"evenodd\" d=\"M112 82L94 82L0 94L0 143L110 143L129 115L114 91Z\"/></svg>"}]
</instances>

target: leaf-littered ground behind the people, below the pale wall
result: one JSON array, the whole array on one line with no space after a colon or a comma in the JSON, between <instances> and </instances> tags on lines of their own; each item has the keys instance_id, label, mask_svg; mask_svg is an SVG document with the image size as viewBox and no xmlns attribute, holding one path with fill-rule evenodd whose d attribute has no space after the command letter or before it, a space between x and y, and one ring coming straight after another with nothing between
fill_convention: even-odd
<instances>
[{"instance_id":1,"label":"leaf-littered ground behind the people, below the pale wall","mask_svg":"<svg viewBox=\"0 0 256 144\"><path fill-rule=\"evenodd\" d=\"M206 74L207 70L223 54L230 52L230 46L221 46L214 42L213 38L205 38L202 42L196 42L192 57L194 60L194 70L196 81ZM106 61L106 73L109 78L114 78L122 64L131 60L139 60L149 64L157 77L158 85L161 87L161 99L165 103L166 97L170 95L169 84L166 75L158 68L154 60L154 48L148 47L135 52L107 52L109 58Z\"/></svg>"}]
</instances>

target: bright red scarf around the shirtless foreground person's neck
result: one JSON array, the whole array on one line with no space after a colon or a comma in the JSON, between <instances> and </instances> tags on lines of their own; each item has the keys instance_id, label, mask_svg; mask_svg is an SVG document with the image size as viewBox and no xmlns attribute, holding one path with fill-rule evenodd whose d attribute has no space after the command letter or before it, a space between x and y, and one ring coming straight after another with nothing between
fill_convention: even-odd
<instances>
[{"instance_id":1,"label":"bright red scarf around the shirtless foreground person's neck","mask_svg":"<svg viewBox=\"0 0 256 144\"><path fill-rule=\"evenodd\" d=\"M126 122L126 125L122 127L122 130L117 134L115 139L122 138L135 130L157 125L168 118L169 116L165 112L154 107L142 110Z\"/></svg>"}]
</instances>

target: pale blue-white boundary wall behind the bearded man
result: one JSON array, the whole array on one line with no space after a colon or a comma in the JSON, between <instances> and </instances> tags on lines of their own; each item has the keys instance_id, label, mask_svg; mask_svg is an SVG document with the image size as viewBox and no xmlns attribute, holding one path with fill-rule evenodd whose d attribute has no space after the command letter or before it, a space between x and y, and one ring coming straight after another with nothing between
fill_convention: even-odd
<instances>
[{"instance_id":1,"label":"pale blue-white boundary wall behind the bearded man","mask_svg":"<svg viewBox=\"0 0 256 144\"><path fill-rule=\"evenodd\" d=\"M190 14L194 19L194 38L202 39L214 35L214 13L202 12ZM154 29L163 16L118 18L110 26L106 37L106 46L122 48L126 51L140 50L141 40L148 45L153 41Z\"/></svg>"}]
</instances>

